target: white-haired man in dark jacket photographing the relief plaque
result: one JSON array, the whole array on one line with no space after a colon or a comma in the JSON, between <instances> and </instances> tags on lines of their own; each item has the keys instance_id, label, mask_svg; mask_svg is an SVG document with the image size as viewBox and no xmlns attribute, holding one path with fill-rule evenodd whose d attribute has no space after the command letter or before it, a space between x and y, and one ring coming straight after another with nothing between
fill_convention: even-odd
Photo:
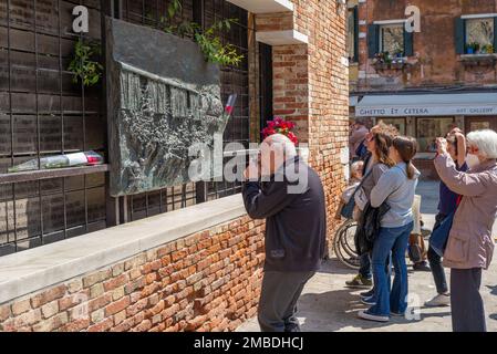
<instances>
[{"instance_id":1,"label":"white-haired man in dark jacket photographing the relief plaque","mask_svg":"<svg viewBox=\"0 0 497 354\"><path fill-rule=\"evenodd\" d=\"M248 215L266 219L258 309L261 331L300 332L297 301L324 258L327 212L321 179L281 134L262 143L259 166L251 162L245 178Z\"/></svg>"}]
</instances>

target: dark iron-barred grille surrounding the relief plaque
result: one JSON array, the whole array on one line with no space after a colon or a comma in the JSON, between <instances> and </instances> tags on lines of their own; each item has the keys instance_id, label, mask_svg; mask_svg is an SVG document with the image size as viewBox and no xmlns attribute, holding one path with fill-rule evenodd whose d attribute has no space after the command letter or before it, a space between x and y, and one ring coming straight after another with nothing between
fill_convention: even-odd
<instances>
[{"instance_id":1,"label":"dark iron-barred grille surrounding the relief plaque","mask_svg":"<svg viewBox=\"0 0 497 354\"><path fill-rule=\"evenodd\" d=\"M117 0L124 21L161 27L166 0ZM107 167L7 175L31 158L93 149L106 156L105 93L85 87L68 71L74 43L72 9L90 10L89 39L102 39L105 0L6 0L0 2L0 256L115 225L107 191ZM105 10L108 11L108 10ZM209 25L235 18L222 34L245 55L221 67L221 95L238 94L225 143L249 144L248 13L225 0L183 0L184 19ZM96 173L95 173L96 171ZM184 208L240 191L240 184L187 184L136 195L121 205L127 221ZM199 192L199 189L201 192ZM199 197L201 195L201 197ZM114 205L114 206L113 206ZM117 207L118 208L118 207Z\"/></svg>"}]
</instances>

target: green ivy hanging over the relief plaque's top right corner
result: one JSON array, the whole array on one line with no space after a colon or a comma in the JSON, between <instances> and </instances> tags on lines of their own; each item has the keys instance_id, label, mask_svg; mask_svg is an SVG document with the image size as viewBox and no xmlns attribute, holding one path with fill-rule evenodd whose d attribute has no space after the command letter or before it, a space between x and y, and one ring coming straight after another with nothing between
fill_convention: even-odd
<instances>
[{"instance_id":1,"label":"green ivy hanging over the relief plaque's top right corner","mask_svg":"<svg viewBox=\"0 0 497 354\"><path fill-rule=\"evenodd\" d=\"M173 0L169 3L167 7L167 15L161 18L161 23L163 24L163 30L165 32L182 38L191 37L199 45L205 60L209 63L232 66L238 66L244 60L244 55L238 54L232 44L222 44L221 39L217 35L218 32L229 31L231 24L237 23L236 19L216 21L209 28L203 30L196 22L182 21L178 24L174 23L176 14L180 10L180 0Z\"/></svg>"}]
</instances>

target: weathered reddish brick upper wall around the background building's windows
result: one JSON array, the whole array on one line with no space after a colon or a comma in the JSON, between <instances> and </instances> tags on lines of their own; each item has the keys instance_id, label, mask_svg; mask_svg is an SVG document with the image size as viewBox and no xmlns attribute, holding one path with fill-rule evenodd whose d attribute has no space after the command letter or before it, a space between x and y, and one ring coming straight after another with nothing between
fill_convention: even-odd
<instances>
[{"instance_id":1,"label":"weathered reddish brick upper wall around the background building's windows","mask_svg":"<svg viewBox=\"0 0 497 354\"><path fill-rule=\"evenodd\" d=\"M376 71L367 58L367 24L373 21L405 19L405 8L416 6L421 10L421 32L414 33L414 55L408 59L408 70ZM497 64L465 66L455 49L455 18L463 14L497 12L497 0L397 0L366 1L359 3L360 73L358 92L396 91L406 87L494 85Z\"/></svg>"}]
</instances>

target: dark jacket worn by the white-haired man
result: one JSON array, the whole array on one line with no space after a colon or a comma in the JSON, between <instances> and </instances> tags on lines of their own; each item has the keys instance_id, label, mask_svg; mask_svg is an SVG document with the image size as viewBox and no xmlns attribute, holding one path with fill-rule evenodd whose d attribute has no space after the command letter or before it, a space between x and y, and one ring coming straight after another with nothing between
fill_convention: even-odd
<instances>
[{"instance_id":1,"label":"dark jacket worn by the white-haired man","mask_svg":"<svg viewBox=\"0 0 497 354\"><path fill-rule=\"evenodd\" d=\"M317 271L324 257L327 237L321 179L299 157L287 160L286 166L301 176L300 184L296 178L286 178L282 168L269 181L248 181L242 188L245 208L252 219L267 219L266 271ZM288 187L298 192L289 194Z\"/></svg>"}]
</instances>

